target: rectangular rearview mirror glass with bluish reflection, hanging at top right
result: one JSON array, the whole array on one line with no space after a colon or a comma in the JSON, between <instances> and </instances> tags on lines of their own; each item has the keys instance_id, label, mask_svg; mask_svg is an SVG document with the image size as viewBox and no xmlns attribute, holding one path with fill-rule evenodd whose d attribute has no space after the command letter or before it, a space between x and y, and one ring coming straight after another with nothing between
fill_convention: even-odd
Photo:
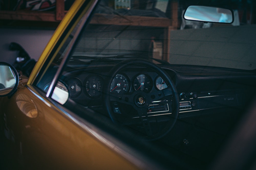
<instances>
[{"instance_id":1,"label":"rectangular rearview mirror glass with bluish reflection, hanging at top right","mask_svg":"<svg viewBox=\"0 0 256 170\"><path fill-rule=\"evenodd\" d=\"M233 15L232 11L226 8L189 6L184 13L184 19L192 21L232 23Z\"/></svg>"}]
</instances>

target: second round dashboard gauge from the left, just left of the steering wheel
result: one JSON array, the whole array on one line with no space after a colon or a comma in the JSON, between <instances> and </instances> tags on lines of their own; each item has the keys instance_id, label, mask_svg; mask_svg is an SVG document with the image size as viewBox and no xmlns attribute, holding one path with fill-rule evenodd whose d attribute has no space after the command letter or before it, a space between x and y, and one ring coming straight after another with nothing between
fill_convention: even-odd
<instances>
[{"instance_id":1,"label":"second round dashboard gauge from the left, just left of the steering wheel","mask_svg":"<svg viewBox=\"0 0 256 170\"><path fill-rule=\"evenodd\" d=\"M91 75L86 79L86 92L91 97L99 97L101 95L103 78L99 75Z\"/></svg>"}]
</instances>

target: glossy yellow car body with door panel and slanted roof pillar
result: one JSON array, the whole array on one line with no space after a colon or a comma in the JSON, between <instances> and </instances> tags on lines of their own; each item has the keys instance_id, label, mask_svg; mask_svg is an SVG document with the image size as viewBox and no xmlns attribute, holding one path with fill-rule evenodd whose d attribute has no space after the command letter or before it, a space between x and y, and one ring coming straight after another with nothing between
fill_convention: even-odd
<instances>
[{"instance_id":1,"label":"glossy yellow car body with door panel and slanted roof pillar","mask_svg":"<svg viewBox=\"0 0 256 170\"><path fill-rule=\"evenodd\" d=\"M18 145L18 159L24 160L22 164L26 168L138 169L140 166L125 158L126 156L120 156L121 151L113 145L108 145L101 137L93 136L91 127L81 127L74 123L71 117L63 114L31 86L53 47L63 35L63 31L67 29L84 2L79 0L72 5L37 61L30 77L24 77L19 81L18 89L10 99L0 98L1 117L6 117L7 120L2 125L5 135L13 145ZM92 3L94 1L88 2L88 8L92 8ZM88 8L83 9L80 17L76 18L77 22ZM75 25L73 24L70 29ZM65 38L67 37L68 34ZM57 52L54 55L57 55ZM14 122L14 117L19 121ZM9 122L9 119L12 121ZM13 165L7 165L9 166Z\"/></svg>"}]
</instances>

